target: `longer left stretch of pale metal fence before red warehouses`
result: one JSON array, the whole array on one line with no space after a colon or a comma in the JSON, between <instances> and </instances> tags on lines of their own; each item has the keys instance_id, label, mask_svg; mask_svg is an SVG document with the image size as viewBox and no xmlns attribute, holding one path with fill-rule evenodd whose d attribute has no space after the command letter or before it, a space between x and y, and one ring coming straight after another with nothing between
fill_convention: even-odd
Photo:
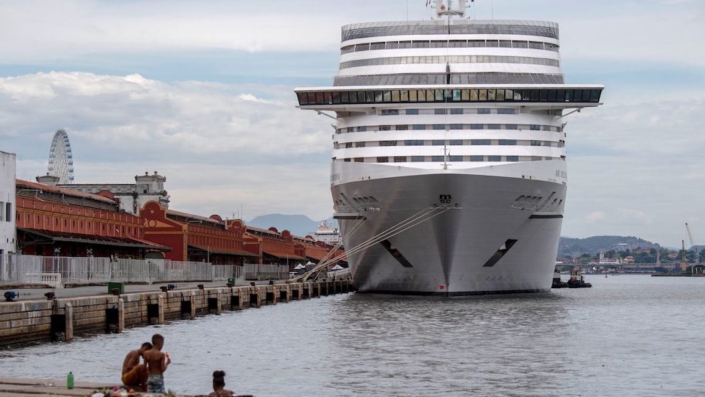
<instances>
[{"instance_id":1,"label":"longer left stretch of pale metal fence before red warehouses","mask_svg":"<svg viewBox=\"0 0 705 397\"><path fill-rule=\"evenodd\" d=\"M0 269L0 284L35 283L57 278L60 283L220 281L242 279L243 273L242 266L208 262L8 255L6 269Z\"/></svg>"}]
</instances>

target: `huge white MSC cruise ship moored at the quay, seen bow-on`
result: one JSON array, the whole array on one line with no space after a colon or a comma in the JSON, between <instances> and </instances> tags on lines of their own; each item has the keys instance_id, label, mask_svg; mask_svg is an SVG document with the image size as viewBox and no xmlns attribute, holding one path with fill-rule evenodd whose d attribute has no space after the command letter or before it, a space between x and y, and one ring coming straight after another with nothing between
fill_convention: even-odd
<instances>
[{"instance_id":1,"label":"huge white MSC cruise ship moored at the quay, seen bow-on","mask_svg":"<svg viewBox=\"0 0 705 397\"><path fill-rule=\"evenodd\" d=\"M295 89L298 107L335 119L330 190L359 292L551 289L564 127L604 86L566 83L557 23L466 6L343 26L333 84Z\"/></svg>"}]
</instances>

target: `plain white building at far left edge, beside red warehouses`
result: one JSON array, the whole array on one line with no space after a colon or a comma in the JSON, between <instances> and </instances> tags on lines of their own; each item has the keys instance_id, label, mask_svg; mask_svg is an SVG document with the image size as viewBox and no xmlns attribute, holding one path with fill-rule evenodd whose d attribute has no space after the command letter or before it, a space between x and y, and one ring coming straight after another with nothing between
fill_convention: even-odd
<instances>
[{"instance_id":1,"label":"plain white building at far left edge, beside red warehouses","mask_svg":"<svg viewBox=\"0 0 705 397\"><path fill-rule=\"evenodd\" d=\"M7 280L7 255L16 250L15 161L14 153L0 152L0 280Z\"/></svg>"}]
</instances>

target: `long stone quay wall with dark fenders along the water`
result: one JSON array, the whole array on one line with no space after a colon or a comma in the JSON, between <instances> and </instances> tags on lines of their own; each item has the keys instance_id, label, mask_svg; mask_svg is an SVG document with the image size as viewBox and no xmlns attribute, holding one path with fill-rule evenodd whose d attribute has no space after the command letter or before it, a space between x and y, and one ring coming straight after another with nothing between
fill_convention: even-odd
<instances>
[{"instance_id":1,"label":"long stone quay wall with dark fenders along the water","mask_svg":"<svg viewBox=\"0 0 705 397\"><path fill-rule=\"evenodd\" d=\"M203 287L106 295L0 302L0 346L51 340L77 334L122 332L125 328L165 324L176 319L220 314L353 291L350 280L296 282L240 287Z\"/></svg>"}]
</instances>

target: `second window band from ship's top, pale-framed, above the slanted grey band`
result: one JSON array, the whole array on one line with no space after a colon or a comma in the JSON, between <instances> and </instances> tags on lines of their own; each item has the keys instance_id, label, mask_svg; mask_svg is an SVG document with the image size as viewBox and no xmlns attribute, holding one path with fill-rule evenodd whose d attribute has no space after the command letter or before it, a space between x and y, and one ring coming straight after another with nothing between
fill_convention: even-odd
<instances>
[{"instance_id":1,"label":"second window band from ship's top, pale-framed, above the slanted grey band","mask_svg":"<svg viewBox=\"0 0 705 397\"><path fill-rule=\"evenodd\" d=\"M504 55L433 55L433 56L390 56L384 58L367 58L348 60L340 63L339 70L360 66L409 65L416 63L523 63L527 65L547 65L558 68L559 60L535 58L530 56Z\"/></svg>"}]
</instances>

